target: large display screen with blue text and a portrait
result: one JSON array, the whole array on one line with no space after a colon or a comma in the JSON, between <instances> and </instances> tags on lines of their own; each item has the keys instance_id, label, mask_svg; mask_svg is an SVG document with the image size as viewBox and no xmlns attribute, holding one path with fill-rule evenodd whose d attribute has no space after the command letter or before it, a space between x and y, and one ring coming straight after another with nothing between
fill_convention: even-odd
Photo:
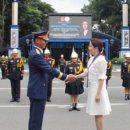
<instances>
[{"instance_id":1,"label":"large display screen with blue text and a portrait","mask_svg":"<svg viewBox=\"0 0 130 130\"><path fill-rule=\"evenodd\" d=\"M91 16L62 15L49 16L49 38L83 38L92 37Z\"/></svg>"}]
</instances>

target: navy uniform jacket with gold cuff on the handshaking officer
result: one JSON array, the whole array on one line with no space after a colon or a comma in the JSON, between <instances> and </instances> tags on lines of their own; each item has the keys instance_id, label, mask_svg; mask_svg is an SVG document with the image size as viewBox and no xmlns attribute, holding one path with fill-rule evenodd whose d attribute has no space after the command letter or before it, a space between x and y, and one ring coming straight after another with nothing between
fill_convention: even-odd
<instances>
[{"instance_id":1,"label":"navy uniform jacket with gold cuff on the handshaking officer","mask_svg":"<svg viewBox=\"0 0 130 130\"><path fill-rule=\"evenodd\" d=\"M47 98L48 74L65 80L67 75L51 67L37 47L33 47L29 54L29 82L27 96L34 99Z\"/></svg>"}]
</instances>

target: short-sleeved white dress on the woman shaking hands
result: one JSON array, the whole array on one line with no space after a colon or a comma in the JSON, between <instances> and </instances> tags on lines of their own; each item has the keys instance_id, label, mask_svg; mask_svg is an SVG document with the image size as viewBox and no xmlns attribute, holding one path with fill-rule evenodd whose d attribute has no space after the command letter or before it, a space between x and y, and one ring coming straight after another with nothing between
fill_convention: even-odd
<instances>
[{"instance_id":1,"label":"short-sleeved white dress on the woman shaking hands","mask_svg":"<svg viewBox=\"0 0 130 130\"><path fill-rule=\"evenodd\" d=\"M91 64L94 57L91 57L88 66ZM88 98L86 112L90 115L109 115L111 112L111 105L106 89L106 68L107 62L105 57L100 55L91 64L89 69L85 69L88 74ZM103 88L101 90L100 102L95 102L95 96L98 89L98 80L104 79Z\"/></svg>"}]
</instances>

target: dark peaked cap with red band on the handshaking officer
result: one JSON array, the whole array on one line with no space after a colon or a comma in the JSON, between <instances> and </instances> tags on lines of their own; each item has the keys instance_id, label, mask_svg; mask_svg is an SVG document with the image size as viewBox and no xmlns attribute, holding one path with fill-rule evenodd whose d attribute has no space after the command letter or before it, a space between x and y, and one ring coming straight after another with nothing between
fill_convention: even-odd
<instances>
[{"instance_id":1,"label":"dark peaked cap with red band on the handshaking officer","mask_svg":"<svg viewBox=\"0 0 130 130\"><path fill-rule=\"evenodd\" d=\"M38 32L38 33L34 33L34 38L40 38L44 41L48 41L48 32L44 31L44 32Z\"/></svg>"}]
</instances>

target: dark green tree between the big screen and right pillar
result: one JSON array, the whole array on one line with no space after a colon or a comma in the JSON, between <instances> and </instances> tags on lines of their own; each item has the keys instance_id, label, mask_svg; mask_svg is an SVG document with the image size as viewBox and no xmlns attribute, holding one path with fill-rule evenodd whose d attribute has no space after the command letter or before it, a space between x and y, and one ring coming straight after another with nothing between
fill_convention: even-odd
<instances>
[{"instance_id":1,"label":"dark green tree between the big screen and right pillar","mask_svg":"<svg viewBox=\"0 0 130 130\"><path fill-rule=\"evenodd\" d=\"M84 5L82 11L84 13L91 12L93 14L93 19L99 24L100 31L119 37L122 26L121 1L89 0L89 2L89 5Z\"/></svg>"}]
</instances>

